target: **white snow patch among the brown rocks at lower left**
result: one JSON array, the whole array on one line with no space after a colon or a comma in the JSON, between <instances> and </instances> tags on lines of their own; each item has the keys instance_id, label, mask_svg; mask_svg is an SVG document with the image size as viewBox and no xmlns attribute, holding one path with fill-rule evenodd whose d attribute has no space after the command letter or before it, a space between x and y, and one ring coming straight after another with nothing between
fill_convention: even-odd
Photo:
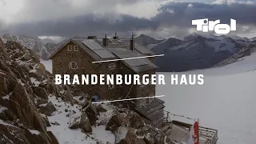
<instances>
[{"instance_id":1,"label":"white snow patch among the brown rocks at lower left","mask_svg":"<svg viewBox=\"0 0 256 144\"><path fill-rule=\"evenodd\" d=\"M105 130L106 126L92 126L92 134L84 134L80 129L71 130L69 128L70 122L74 121L73 118L78 118L81 115L81 107L79 105L71 106L70 103L62 102L61 98L50 97L50 102L54 103L57 111L49 118L51 123L58 122L57 125L47 127L52 131L59 143L63 144L82 144L82 143L114 143L114 134L111 131ZM68 111L66 111L68 110ZM71 111L71 113L70 113ZM70 117L66 117L70 114ZM102 119L100 119L102 120ZM99 120L99 121L100 121Z\"/></svg>"}]
</instances>

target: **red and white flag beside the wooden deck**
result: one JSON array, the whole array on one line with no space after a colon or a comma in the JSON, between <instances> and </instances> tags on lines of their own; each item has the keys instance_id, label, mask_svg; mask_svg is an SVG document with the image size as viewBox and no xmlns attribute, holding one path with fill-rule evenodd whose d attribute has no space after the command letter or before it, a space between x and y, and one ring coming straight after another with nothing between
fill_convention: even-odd
<instances>
[{"instance_id":1,"label":"red and white flag beside the wooden deck","mask_svg":"<svg viewBox=\"0 0 256 144\"><path fill-rule=\"evenodd\" d=\"M199 144L198 122L194 122L194 125L190 128L190 139L188 144Z\"/></svg>"}]
</instances>

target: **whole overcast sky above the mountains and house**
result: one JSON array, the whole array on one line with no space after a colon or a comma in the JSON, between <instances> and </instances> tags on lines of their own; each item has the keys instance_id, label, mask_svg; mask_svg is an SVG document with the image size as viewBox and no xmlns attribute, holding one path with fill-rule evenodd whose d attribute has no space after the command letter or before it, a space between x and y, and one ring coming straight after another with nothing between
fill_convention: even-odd
<instances>
[{"instance_id":1,"label":"whole overcast sky above the mountains and house","mask_svg":"<svg viewBox=\"0 0 256 144\"><path fill-rule=\"evenodd\" d=\"M234 18L237 31L230 34L256 37L255 14L256 0L0 0L0 34L182 38L195 32L192 19Z\"/></svg>"}]
</instances>

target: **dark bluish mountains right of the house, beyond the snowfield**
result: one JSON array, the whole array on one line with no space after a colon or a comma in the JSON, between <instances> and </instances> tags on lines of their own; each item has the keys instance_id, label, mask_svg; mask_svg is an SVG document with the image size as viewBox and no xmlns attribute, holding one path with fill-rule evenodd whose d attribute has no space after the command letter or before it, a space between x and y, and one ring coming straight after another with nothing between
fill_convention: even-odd
<instances>
[{"instance_id":1,"label":"dark bluish mountains right of the house, beyond the snowfield","mask_svg":"<svg viewBox=\"0 0 256 144\"><path fill-rule=\"evenodd\" d=\"M159 71L186 71L205 69L222 62L246 47L255 47L256 38L228 37L226 35L202 36L190 34L184 40L169 38L158 41L144 34L138 37L144 46L156 54L165 54L156 58ZM152 47L152 45L154 45Z\"/></svg>"}]
</instances>

